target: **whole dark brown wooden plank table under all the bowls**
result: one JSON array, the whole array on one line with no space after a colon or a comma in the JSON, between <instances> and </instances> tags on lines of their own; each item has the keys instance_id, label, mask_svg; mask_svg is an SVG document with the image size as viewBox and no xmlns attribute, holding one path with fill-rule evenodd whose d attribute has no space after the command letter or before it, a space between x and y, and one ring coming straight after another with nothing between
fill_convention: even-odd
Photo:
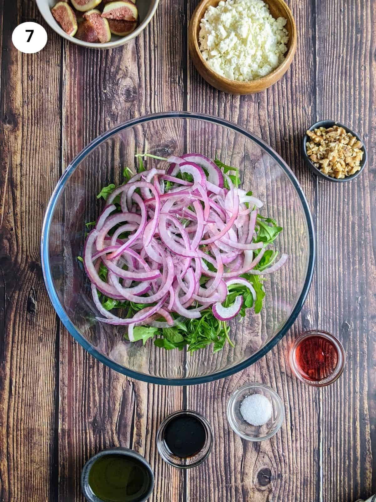
<instances>
[{"instance_id":1,"label":"whole dark brown wooden plank table under all the bowls","mask_svg":"<svg viewBox=\"0 0 376 502\"><path fill-rule=\"evenodd\" d=\"M376 4L290 0L298 29L290 70L267 91L238 97L207 85L187 55L196 3L161 0L138 38L96 51L57 36L34 2L0 1L2 502L82 500L82 465L113 445L151 463L155 502L352 502L376 492ZM30 20L49 37L36 55L11 42ZM115 124L175 109L225 117L270 144L307 195L318 243L312 287L288 335L231 378L178 388L133 381L88 355L57 317L40 261L44 211L68 163ZM356 181L321 181L304 166L300 138L322 118L364 139L369 161ZM347 355L340 380L321 390L297 381L286 359L293 338L317 327ZM272 386L286 412L281 431L254 444L225 416L229 393L253 380ZM155 444L160 421L184 407L202 412L216 439L206 463L188 472L167 466Z\"/></svg>"}]
</instances>

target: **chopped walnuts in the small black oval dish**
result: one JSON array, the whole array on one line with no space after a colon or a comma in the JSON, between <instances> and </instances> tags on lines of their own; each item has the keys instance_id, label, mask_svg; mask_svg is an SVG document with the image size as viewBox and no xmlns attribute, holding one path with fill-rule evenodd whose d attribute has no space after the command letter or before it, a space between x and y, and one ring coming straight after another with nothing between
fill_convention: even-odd
<instances>
[{"instance_id":1,"label":"chopped walnuts in the small black oval dish","mask_svg":"<svg viewBox=\"0 0 376 502\"><path fill-rule=\"evenodd\" d=\"M362 143L339 126L307 131L306 151L314 167L332 178L344 178L360 169Z\"/></svg>"}]
</instances>

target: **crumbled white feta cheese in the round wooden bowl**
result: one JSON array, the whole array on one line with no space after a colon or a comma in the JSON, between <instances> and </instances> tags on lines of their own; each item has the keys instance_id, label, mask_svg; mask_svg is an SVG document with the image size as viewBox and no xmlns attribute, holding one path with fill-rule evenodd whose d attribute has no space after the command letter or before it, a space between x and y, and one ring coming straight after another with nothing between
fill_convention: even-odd
<instances>
[{"instance_id":1,"label":"crumbled white feta cheese in the round wooden bowl","mask_svg":"<svg viewBox=\"0 0 376 502\"><path fill-rule=\"evenodd\" d=\"M208 65L231 80L268 75L284 60L286 19L274 19L263 0L227 0L209 7L200 24L200 50Z\"/></svg>"}]
</instances>

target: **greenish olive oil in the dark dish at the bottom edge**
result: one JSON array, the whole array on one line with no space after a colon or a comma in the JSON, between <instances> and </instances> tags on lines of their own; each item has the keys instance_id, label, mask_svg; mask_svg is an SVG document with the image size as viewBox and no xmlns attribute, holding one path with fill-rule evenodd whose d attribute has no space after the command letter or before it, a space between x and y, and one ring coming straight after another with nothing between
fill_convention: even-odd
<instances>
[{"instance_id":1,"label":"greenish olive oil in the dark dish at the bottom edge","mask_svg":"<svg viewBox=\"0 0 376 502\"><path fill-rule=\"evenodd\" d=\"M92 465L89 485L106 502L137 502L147 493L149 473L136 458L105 455Z\"/></svg>"}]
</instances>

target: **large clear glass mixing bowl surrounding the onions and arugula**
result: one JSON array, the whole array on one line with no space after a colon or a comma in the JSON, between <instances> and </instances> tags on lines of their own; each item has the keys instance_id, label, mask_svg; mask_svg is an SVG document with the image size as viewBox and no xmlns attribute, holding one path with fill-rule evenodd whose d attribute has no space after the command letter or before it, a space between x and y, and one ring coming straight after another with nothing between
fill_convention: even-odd
<instances>
[{"instance_id":1,"label":"large clear glass mixing bowl surrounding the onions and arugula","mask_svg":"<svg viewBox=\"0 0 376 502\"><path fill-rule=\"evenodd\" d=\"M243 188L264 201L263 215L283 226L275 245L289 260L265 276L261 314L248 309L231 322L235 348L212 346L194 352L165 350L152 340L143 346L123 339L124 327L101 324L89 281L77 260L82 256L85 222L97 218L104 201L96 195L109 183L123 182L135 153L168 157L198 152L240 168ZM163 165L147 159L148 168ZM169 112L130 120L88 145L60 178L47 207L42 230L42 266L51 301L68 331L93 356L132 378L156 384L209 382L246 368L270 350L295 321L312 279L315 244L304 193L285 162L263 141L217 117Z\"/></svg>"}]
</instances>

